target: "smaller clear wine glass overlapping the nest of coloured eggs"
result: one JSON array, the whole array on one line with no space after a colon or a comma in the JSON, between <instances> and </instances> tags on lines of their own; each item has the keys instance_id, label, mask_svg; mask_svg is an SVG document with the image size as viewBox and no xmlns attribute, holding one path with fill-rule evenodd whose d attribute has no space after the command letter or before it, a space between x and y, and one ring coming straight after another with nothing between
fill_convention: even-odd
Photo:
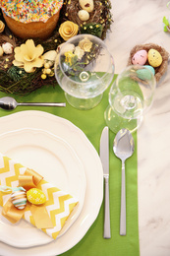
<instances>
[{"instance_id":1,"label":"smaller clear wine glass overlapping the nest of coloured eggs","mask_svg":"<svg viewBox=\"0 0 170 256\"><path fill-rule=\"evenodd\" d=\"M114 133L122 128L135 132L152 104L155 87L156 81L149 68L140 65L127 67L109 92L109 105L104 112L109 128Z\"/></svg>"}]
</instances>

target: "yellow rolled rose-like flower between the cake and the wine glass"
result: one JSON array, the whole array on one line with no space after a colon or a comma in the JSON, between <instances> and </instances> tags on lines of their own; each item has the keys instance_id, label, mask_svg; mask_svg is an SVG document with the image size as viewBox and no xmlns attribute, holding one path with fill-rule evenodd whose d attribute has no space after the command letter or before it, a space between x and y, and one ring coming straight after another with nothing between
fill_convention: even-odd
<instances>
[{"instance_id":1,"label":"yellow rolled rose-like flower between the cake and the wine glass","mask_svg":"<svg viewBox=\"0 0 170 256\"><path fill-rule=\"evenodd\" d=\"M79 26L73 22L67 21L61 24L59 33L61 37L67 41L78 33Z\"/></svg>"}]
</instances>

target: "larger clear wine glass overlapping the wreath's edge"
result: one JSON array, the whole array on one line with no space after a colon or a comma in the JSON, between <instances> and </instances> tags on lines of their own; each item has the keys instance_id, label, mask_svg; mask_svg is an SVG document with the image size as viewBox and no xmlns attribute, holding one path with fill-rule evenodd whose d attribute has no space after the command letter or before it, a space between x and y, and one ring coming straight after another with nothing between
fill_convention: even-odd
<instances>
[{"instance_id":1,"label":"larger clear wine glass overlapping the wreath's edge","mask_svg":"<svg viewBox=\"0 0 170 256\"><path fill-rule=\"evenodd\" d=\"M113 57L100 38L76 35L61 46L55 76L72 106L90 109L100 102L113 79Z\"/></svg>"}]
</instances>

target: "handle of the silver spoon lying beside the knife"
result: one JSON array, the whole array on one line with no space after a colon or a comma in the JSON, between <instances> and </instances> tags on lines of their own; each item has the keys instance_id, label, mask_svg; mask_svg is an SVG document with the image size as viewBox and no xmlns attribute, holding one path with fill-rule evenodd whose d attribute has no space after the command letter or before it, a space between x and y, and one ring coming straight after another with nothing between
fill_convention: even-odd
<instances>
[{"instance_id":1,"label":"handle of the silver spoon lying beside the knife","mask_svg":"<svg viewBox=\"0 0 170 256\"><path fill-rule=\"evenodd\" d=\"M126 186L125 186L125 161L124 160L122 160L120 235L126 235Z\"/></svg>"}]
</instances>

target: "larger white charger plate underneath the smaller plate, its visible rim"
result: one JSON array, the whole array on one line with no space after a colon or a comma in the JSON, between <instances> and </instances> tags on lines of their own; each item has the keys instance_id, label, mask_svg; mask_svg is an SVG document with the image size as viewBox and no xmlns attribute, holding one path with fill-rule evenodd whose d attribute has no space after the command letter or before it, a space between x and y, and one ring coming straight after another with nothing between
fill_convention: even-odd
<instances>
[{"instance_id":1,"label":"larger white charger plate underneath the smaller plate, its visible rim","mask_svg":"<svg viewBox=\"0 0 170 256\"><path fill-rule=\"evenodd\" d=\"M17 129L41 129L66 141L85 168L86 190L83 210L74 224L53 242L31 248L15 248L0 243L1 255L51 256L75 246L98 216L103 200L103 170L99 156L83 131L70 121L42 111L21 111L0 118L0 134ZM19 237L20 238L20 237Z\"/></svg>"}]
</instances>

